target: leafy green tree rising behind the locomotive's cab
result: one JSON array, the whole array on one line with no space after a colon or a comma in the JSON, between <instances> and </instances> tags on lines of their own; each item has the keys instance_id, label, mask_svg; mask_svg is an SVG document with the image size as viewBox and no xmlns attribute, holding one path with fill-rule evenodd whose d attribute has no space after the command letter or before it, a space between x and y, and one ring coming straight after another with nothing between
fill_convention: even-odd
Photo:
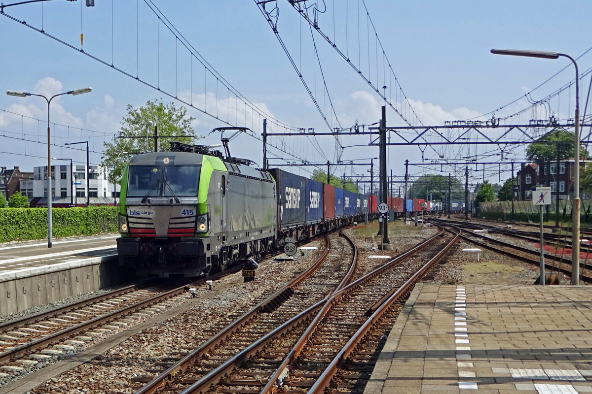
<instances>
[{"instance_id":1,"label":"leafy green tree rising behind the locomotive's cab","mask_svg":"<svg viewBox=\"0 0 592 394\"><path fill-rule=\"evenodd\" d=\"M165 104L157 100L148 100L140 108L127 106L127 115L123 117L120 133L126 137L115 135L111 142L104 142L105 150L101 157L101 165L108 170L110 183L119 183L121 175L133 154L152 152L154 150L154 128L157 128L159 151L166 151L170 141L186 144L194 143L194 131L191 122L195 118L187 115L185 107L177 107L174 103ZM150 125L149 122L152 122ZM203 138L203 137L198 137Z\"/></svg>"}]
</instances>

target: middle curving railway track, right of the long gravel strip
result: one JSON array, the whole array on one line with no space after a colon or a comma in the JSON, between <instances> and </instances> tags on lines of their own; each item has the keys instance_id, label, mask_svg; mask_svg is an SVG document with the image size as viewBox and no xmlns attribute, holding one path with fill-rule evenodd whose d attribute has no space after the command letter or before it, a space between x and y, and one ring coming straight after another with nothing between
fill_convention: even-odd
<instances>
[{"instance_id":1,"label":"middle curving railway track, right of the long gravel strip","mask_svg":"<svg viewBox=\"0 0 592 394\"><path fill-rule=\"evenodd\" d=\"M355 271L355 251L347 251L345 237L327 239L327 250L311 268L291 283L279 289L271 297L260 302L233 323L191 353L171 354L166 359L168 368L154 371L157 376L143 376L133 379L146 383L137 394L166 390L180 392L198 382L201 377L213 371L225 370L237 360L251 354L258 338L269 336L277 327L291 327L294 315L318 305L334 289L345 286ZM346 261L343 263L343 255Z\"/></svg>"}]
</instances>

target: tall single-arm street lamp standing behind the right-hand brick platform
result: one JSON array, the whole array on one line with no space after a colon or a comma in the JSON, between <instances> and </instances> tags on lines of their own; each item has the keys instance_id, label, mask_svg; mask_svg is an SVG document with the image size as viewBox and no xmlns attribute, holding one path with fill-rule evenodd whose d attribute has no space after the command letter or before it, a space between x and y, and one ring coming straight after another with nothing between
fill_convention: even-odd
<instances>
[{"instance_id":1,"label":"tall single-arm street lamp standing behind the right-hand brick platform","mask_svg":"<svg viewBox=\"0 0 592 394\"><path fill-rule=\"evenodd\" d=\"M491 53L496 55L540 57L543 59L556 59L559 56L567 57L575 66L575 131L574 131L574 214L572 215L571 228L571 284L580 284L580 74L578 64L574 58L564 53L524 51L524 50L502 50L492 49Z\"/></svg>"}]
</instances>

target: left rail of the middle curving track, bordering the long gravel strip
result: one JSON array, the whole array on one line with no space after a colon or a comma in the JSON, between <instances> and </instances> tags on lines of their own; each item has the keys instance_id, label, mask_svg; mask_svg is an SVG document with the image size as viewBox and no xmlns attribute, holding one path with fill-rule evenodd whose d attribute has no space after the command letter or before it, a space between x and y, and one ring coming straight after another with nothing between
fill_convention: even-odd
<instances>
[{"instance_id":1,"label":"left rail of the middle curving track, bordering the long gravel strip","mask_svg":"<svg viewBox=\"0 0 592 394\"><path fill-rule=\"evenodd\" d=\"M189 366L195 364L197 360L200 360L205 353L210 351L210 349L213 349L213 347L217 346L222 341L226 340L226 338L230 337L234 333L234 331L236 331L243 324L252 319L255 315L261 312L269 312L271 310L275 310L276 308L278 308L279 305L281 305L288 297L291 296L291 294L294 294L292 288L304 281L305 278L308 278L308 276L310 276L314 271L316 271L316 269L324 261L324 259L326 259L331 249L331 243L327 235L325 235L324 237L326 240L327 248L325 248L323 254L317 259L317 261L314 262L313 265L308 267L308 269L306 269L303 273L301 273L300 276L294 278L291 282L289 282L287 285L276 291L270 297L261 301L258 305L256 305L256 307L252 308L250 311L246 312L245 314L234 320L233 323L224 328L224 330L218 332L215 336L211 337L205 343L201 344L201 346L195 349L194 351L191 351L191 353L187 354L185 357L179 360L179 362L175 363L175 365L170 366L167 370L165 370L165 372L155 377L155 379L153 379L152 382L148 383L143 388L137 390L136 394L156 393L157 390L162 389L168 382L175 379L176 375L178 375L179 373L184 373ZM247 349L249 349L249 347L247 347ZM239 354L237 354L237 356Z\"/></svg>"}]
</instances>

